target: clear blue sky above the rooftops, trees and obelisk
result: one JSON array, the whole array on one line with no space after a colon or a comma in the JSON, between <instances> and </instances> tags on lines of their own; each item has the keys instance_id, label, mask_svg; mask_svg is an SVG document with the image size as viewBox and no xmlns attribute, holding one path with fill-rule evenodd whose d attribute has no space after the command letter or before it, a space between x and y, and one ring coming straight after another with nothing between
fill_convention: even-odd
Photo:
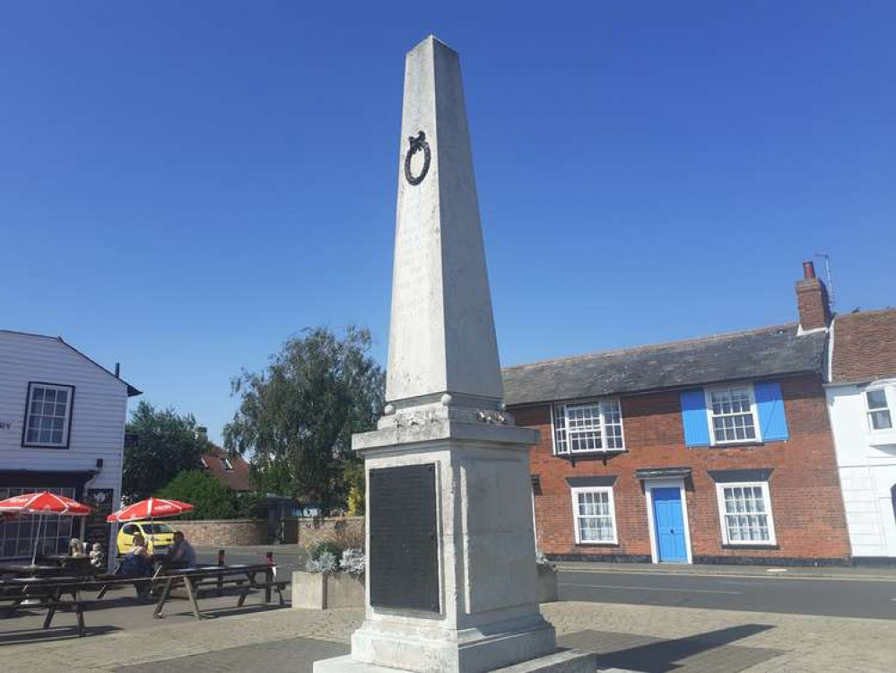
<instances>
[{"instance_id":1,"label":"clear blue sky above the rooftops, trees and obelisk","mask_svg":"<svg viewBox=\"0 0 896 673\"><path fill-rule=\"evenodd\" d=\"M0 327L213 438L300 328L370 326L384 360L430 32L463 59L503 363L793 320L815 252L839 310L896 303L896 4L313 5L0 4Z\"/></svg>"}]
</instances>

